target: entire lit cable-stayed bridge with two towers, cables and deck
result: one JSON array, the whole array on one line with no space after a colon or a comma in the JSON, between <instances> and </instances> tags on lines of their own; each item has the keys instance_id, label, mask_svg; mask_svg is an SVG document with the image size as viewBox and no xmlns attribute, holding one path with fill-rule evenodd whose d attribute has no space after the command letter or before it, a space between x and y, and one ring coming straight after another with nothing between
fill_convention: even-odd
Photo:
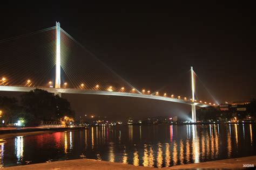
<instances>
[{"instance_id":1,"label":"entire lit cable-stayed bridge with two towers, cables and deck","mask_svg":"<svg viewBox=\"0 0 256 170\"><path fill-rule=\"evenodd\" d=\"M195 99L193 67L191 98L138 90L61 29L59 23L1 40L0 56L0 91L40 88L59 95L112 95L183 103L191 105L193 122L196 122L196 106L215 106Z\"/></svg>"}]
</instances>

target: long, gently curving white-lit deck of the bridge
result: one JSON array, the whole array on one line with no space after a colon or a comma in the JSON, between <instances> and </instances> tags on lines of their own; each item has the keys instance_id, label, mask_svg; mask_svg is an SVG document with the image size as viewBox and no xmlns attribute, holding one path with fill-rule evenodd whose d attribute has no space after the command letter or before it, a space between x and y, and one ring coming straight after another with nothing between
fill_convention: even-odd
<instances>
[{"instance_id":1,"label":"long, gently curving white-lit deck of the bridge","mask_svg":"<svg viewBox=\"0 0 256 170\"><path fill-rule=\"evenodd\" d=\"M79 90L79 89L67 89L67 88L45 88L45 87L19 87L19 86L0 86L0 91L17 91L17 92L28 92L34 89L46 90L49 93L55 94L91 94L91 95L109 95L109 96L124 96L124 97L137 97L137 98L149 98L153 100L161 100L175 103L183 103L188 105L197 105L198 107L209 107L210 105L203 103L195 103L191 101L179 100L177 98L144 95L136 93L121 93L114 91L97 91L97 90Z\"/></svg>"}]
</instances>

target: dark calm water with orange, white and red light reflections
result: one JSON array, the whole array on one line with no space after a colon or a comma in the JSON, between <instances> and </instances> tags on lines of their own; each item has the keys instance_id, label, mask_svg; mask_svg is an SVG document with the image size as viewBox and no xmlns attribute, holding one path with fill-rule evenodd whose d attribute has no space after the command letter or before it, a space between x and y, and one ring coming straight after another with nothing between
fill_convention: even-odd
<instances>
[{"instance_id":1,"label":"dark calm water with orange, white and red light reflections","mask_svg":"<svg viewBox=\"0 0 256 170\"><path fill-rule=\"evenodd\" d=\"M256 154L254 124L93 127L0 143L1 165L89 158L150 167Z\"/></svg>"}]
</instances>

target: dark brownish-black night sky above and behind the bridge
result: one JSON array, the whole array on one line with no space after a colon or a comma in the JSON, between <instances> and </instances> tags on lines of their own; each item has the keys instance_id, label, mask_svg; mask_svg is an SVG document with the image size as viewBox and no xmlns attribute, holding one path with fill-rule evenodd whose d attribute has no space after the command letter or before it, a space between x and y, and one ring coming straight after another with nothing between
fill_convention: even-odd
<instances>
[{"instance_id":1,"label":"dark brownish-black night sky above and behind the bridge","mask_svg":"<svg viewBox=\"0 0 256 170\"><path fill-rule=\"evenodd\" d=\"M206 101L214 102L206 88L219 103L256 97L255 8L250 1L242 4L10 2L1 1L0 39L55 26L57 21L138 89L157 90L167 86L170 93L189 97L188 70L193 66L201 80L197 80L197 93ZM190 108L134 98L64 97L78 115L94 112L102 116L107 112L110 117L120 114L145 117L177 114Z\"/></svg>"}]
</instances>

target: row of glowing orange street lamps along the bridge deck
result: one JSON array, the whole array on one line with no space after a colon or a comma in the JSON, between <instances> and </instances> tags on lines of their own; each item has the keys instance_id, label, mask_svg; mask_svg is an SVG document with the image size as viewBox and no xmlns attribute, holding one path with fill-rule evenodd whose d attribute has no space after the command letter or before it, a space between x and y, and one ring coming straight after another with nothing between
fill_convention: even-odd
<instances>
[{"instance_id":1,"label":"row of glowing orange street lamps along the bridge deck","mask_svg":"<svg viewBox=\"0 0 256 170\"><path fill-rule=\"evenodd\" d=\"M2 81L3 81L3 82L6 81L5 77L2 78ZM31 80L27 80L26 82L27 82L27 83L26 83L27 86L31 86ZM49 81L48 84L49 84L50 87L52 87L52 82L51 82L51 81ZM68 85L68 83L65 82L65 83L64 83L64 87L66 88L67 85ZM85 86L85 85L84 85L83 83L80 84L80 88L81 88L81 89L84 89L84 86ZM99 85L97 84L97 85L95 86L95 88L96 88L96 89L99 89ZM122 87L121 90L124 91L124 87ZM107 89L107 91L113 91L113 87L110 86L110 87ZM135 91L136 91L136 89L133 88L133 89L132 89L132 92L134 93ZM146 92L146 90L143 89L143 90L142 90L142 94L145 94L145 92ZM150 90L147 90L147 94L150 95ZM159 96L159 92L158 92L158 91L157 91L155 94L156 94L156 96ZM167 94L164 93L163 96L164 96L164 97L167 97ZM173 95L173 94L171 95L171 98L174 98L174 95ZM177 99L181 100L181 97L180 97L180 96L177 96ZM187 101L187 97L184 97L184 100ZM192 98L190 99L190 101L191 101L191 102L197 102L197 100L194 100L194 101L193 101ZM202 101L199 101L199 103L203 103L203 102L202 102ZM204 104L207 104L207 102L204 102ZM212 105L212 103L208 103L208 104ZM215 103L213 103L213 105L215 106Z\"/></svg>"}]
</instances>

